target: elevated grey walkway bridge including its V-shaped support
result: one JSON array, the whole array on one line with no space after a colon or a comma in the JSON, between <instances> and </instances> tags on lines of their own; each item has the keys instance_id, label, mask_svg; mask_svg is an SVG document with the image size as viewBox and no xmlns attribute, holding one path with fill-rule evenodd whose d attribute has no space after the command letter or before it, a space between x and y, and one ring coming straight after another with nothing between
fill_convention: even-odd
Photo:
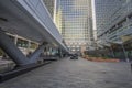
<instances>
[{"instance_id":1,"label":"elevated grey walkway bridge including its V-shaped support","mask_svg":"<svg viewBox=\"0 0 132 88\"><path fill-rule=\"evenodd\" d=\"M25 56L7 33L34 41L38 46ZM45 48L57 51L59 55L68 53L42 0L0 0L0 47L20 68L36 65Z\"/></svg>"}]
</instances>

